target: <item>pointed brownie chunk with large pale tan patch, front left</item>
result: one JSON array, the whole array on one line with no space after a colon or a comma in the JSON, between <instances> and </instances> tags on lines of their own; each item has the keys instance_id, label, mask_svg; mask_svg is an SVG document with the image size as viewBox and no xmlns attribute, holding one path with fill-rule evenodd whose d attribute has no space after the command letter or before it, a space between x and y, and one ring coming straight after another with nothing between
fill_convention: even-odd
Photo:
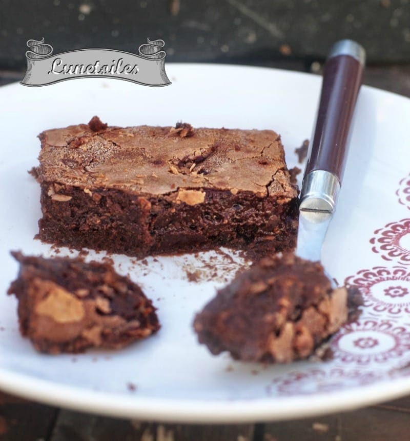
<instances>
[{"instance_id":1,"label":"pointed brownie chunk with large pale tan patch, front left","mask_svg":"<svg viewBox=\"0 0 410 441\"><path fill-rule=\"evenodd\" d=\"M38 351L117 349L158 331L151 300L111 265L12 255L20 270L8 294L18 299L20 332Z\"/></svg>"}]
</instances>

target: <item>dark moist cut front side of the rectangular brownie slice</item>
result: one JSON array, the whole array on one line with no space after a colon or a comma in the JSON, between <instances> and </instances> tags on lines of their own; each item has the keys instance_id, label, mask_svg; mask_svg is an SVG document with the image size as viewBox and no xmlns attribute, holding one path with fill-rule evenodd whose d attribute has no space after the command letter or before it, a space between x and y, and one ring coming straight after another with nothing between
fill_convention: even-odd
<instances>
[{"instance_id":1,"label":"dark moist cut front side of the rectangular brownie slice","mask_svg":"<svg viewBox=\"0 0 410 441\"><path fill-rule=\"evenodd\" d=\"M145 256L211 249L215 244L255 251L295 245L296 200L281 204L276 197L260 198L252 192L233 195L206 189L206 202L191 206L175 204L167 196L114 189L94 190L90 197L76 187L61 186L72 197L68 204L53 201L50 186L42 184L39 237L61 246Z\"/></svg>"}]
</instances>

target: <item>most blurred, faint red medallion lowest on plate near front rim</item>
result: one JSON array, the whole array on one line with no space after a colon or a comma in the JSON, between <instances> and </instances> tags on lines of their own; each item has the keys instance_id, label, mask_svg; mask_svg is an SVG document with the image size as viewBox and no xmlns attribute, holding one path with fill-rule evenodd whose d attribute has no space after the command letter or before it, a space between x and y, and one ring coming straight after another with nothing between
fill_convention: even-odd
<instances>
[{"instance_id":1,"label":"most blurred, faint red medallion lowest on plate near front rim","mask_svg":"<svg viewBox=\"0 0 410 441\"><path fill-rule=\"evenodd\" d=\"M363 369L311 369L290 372L273 380L278 395L310 395L333 392L348 387L372 384L382 378L382 374Z\"/></svg>"}]
</instances>

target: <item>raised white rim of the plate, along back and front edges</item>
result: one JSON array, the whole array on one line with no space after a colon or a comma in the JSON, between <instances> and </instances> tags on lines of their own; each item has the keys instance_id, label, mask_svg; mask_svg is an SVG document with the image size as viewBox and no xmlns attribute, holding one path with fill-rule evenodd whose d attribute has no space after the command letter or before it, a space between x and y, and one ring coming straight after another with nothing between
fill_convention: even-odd
<instances>
[{"instance_id":1,"label":"raised white rim of the plate, along back and front edges","mask_svg":"<svg viewBox=\"0 0 410 441\"><path fill-rule=\"evenodd\" d=\"M217 63L167 63L167 66L177 69L200 67L212 70L264 70L273 73L286 73L291 76L315 78L315 81L321 81L321 75L314 73L266 66ZM1 86L0 93L5 89L20 86L19 82ZM387 94L394 99L404 99L403 103L410 104L410 98L398 93L367 85L362 87L373 93ZM17 374L12 370L0 368L0 389L36 402L106 416L137 417L164 422L228 424L310 417L384 402L410 393L410 377L379 379L369 385L327 393L294 396L274 395L263 398L218 401L215 399L151 398L138 396L138 391L133 394L130 392L130 396L126 396L124 393L99 392L34 378L30 375ZM308 403L309 406L306 406Z\"/></svg>"}]
</instances>

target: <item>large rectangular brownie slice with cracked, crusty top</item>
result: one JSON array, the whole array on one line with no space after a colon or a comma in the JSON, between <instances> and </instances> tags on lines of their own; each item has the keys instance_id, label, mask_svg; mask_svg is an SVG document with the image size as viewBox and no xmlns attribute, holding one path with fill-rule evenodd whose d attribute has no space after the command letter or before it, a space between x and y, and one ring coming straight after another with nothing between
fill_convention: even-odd
<instances>
[{"instance_id":1,"label":"large rectangular brownie slice with cracked, crusty top","mask_svg":"<svg viewBox=\"0 0 410 441\"><path fill-rule=\"evenodd\" d=\"M39 138L45 242L137 257L295 246L297 188L271 130L107 127L94 116Z\"/></svg>"}]
</instances>

